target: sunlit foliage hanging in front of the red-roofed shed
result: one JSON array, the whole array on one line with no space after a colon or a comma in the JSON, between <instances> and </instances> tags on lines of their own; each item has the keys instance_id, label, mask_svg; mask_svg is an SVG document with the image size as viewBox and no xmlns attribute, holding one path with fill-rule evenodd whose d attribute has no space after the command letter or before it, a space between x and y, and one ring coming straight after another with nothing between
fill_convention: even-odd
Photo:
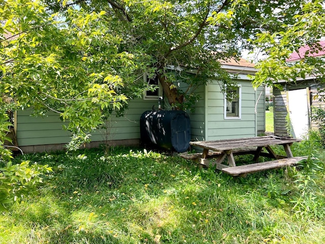
<instances>
[{"instance_id":1,"label":"sunlit foliage hanging in front of the red-roofed shed","mask_svg":"<svg viewBox=\"0 0 325 244\"><path fill-rule=\"evenodd\" d=\"M272 85L279 80L295 82L306 77L317 77L318 82L324 82L325 60L317 57L317 53L323 50L319 41L325 38L323 1L295 1L287 4L288 7L290 5L293 6L288 11L291 21L280 22L277 31L265 31L251 39L267 54L256 66L259 70L253 80L254 86ZM281 9L279 15L286 17L287 9ZM290 54L299 53L302 46L310 47L310 51L299 62L288 64L286 60Z\"/></svg>"}]
</instances>

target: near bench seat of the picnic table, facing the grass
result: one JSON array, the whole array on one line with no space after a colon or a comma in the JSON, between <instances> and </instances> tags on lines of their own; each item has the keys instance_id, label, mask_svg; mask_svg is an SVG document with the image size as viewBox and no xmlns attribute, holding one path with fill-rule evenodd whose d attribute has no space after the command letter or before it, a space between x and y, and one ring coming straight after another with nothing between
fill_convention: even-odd
<instances>
[{"instance_id":1,"label":"near bench seat of the picnic table, facing the grass","mask_svg":"<svg viewBox=\"0 0 325 244\"><path fill-rule=\"evenodd\" d=\"M294 157L294 158L287 158L287 159L279 159L274 161L268 161L263 163L256 163L256 164L248 164L248 165L241 165L236 167L229 167L221 169L222 172L231 174L233 176L238 175L246 175L247 173L253 173L268 169L275 169L284 166L294 165L298 162L307 159L307 157Z\"/></svg>"}]
</instances>

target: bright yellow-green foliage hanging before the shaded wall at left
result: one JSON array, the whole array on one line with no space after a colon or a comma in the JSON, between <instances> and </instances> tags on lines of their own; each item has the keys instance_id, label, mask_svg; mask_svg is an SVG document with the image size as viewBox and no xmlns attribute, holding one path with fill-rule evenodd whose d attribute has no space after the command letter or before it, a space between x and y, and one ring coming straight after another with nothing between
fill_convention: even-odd
<instances>
[{"instance_id":1,"label":"bright yellow-green foliage hanging before the shaded wall at left","mask_svg":"<svg viewBox=\"0 0 325 244\"><path fill-rule=\"evenodd\" d=\"M51 110L84 134L103 123L108 112L127 104L121 92L133 83L134 55L119 51L121 38L108 32L105 12L70 8L50 14L41 3L6 1L2 41L2 92L19 108L42 115ZM123 77L123 80L122 80Z\"/></svg>"}]
</instances>

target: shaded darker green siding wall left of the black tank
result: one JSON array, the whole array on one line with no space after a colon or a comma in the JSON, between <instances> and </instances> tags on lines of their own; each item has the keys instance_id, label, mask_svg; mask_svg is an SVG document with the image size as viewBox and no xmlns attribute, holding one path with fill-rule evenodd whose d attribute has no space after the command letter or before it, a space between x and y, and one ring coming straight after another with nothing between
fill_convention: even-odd
<instances>
[{"instance_id":1,"label":"shaded darker green siding wall left of the black tank","mask_svg":"<svg viewBox=\"0 0 325 244\"><path fill-rule=\"evenodd\" d=\"M146 110L151 110L158 101L142 99L129 102L129 109L122 117L111 116L108 130L94 131L92 141L123 140L140 138L140 116ZM68 143L70 133L62 130L63 123L55 113L44 117L31 117L30 110L17 112L16 135L19 146L48 145Z\"/></svg>"}]
</instances>

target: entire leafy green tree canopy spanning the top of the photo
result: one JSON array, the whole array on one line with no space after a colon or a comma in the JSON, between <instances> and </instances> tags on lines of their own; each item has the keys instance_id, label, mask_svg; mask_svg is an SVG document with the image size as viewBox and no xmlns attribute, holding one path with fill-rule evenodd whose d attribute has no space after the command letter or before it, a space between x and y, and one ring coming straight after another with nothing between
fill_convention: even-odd
<instances>
[{"instance_id":1,"label":"entire leafy green tree canopy spanning the top of the photo","mask_svg":"<svg viewBox=\"0 0 325 244\"><path fill-rule=\"evenodd\" d=\"M86 141L112 111L148 89L143 74L156 75L171 106L186 109L208 77L231 90L221 62L243 49L268 54L256 86L321 69L314 59L285 65L291 52L324 36L320 3L0 0L1 93L36 115L57 112L74 141Z\"/></svg>"}]
</instances>

